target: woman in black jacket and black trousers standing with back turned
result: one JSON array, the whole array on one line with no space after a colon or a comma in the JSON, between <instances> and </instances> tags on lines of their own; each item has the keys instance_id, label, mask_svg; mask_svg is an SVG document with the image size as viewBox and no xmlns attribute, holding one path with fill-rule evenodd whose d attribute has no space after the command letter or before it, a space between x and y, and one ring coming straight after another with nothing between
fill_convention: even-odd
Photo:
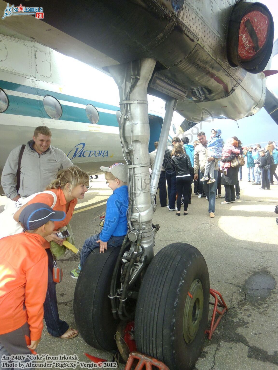
<instances>
[{"instance_id":1,"label":"woman in black jacket and black trousers standing with back turned","mask_svg":"<svg viewBox=\"0 0 278 370\"><path fill-rule=\"evenodd\" d=\"M187 207L189 202L189 193L192 183L191 174L193 173L193 167L189 156L185 153L182 143L176 143L172 151L172 162L176 167L176 187L177 187L177 216L181 215L181 204L183 195L184 212L183 215L188 215Z\"/></svg>"}]
</instances>

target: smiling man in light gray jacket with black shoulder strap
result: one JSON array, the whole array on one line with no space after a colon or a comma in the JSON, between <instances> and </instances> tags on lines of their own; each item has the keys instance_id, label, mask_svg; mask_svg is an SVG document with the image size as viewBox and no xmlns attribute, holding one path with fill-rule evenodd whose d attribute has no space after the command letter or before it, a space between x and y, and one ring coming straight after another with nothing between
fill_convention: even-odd
<instances>
[{"instance_id":1,"label":"smiling man in light gray jacket with black shoulder strap","mask_svg":"<svg viewBox=\"0 0 278 370\"><path fill-rule=\"evenodd\" d=\"M23 151L18 192L16 173L21 145L10 152L1 176L1 185L8 198L16 202L21 196L44 191L60 169L73 166L66 154L50 143L50 129L46 126L37 127L33 139L27 142Z\"/></svg>"}]
</instances>

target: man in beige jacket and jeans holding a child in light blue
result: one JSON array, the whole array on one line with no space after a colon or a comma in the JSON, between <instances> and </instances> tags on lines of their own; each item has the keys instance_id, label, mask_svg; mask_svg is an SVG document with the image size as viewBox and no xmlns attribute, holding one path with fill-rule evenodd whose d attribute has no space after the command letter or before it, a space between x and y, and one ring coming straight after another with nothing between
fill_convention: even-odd
<instances>
[{"instance_id":1,"label":"man in beige jacket and jeans holding a child in light blue","mask_svg":"<svg viewBox=\"0 0 278 370\"><path fill-rule=\"evenodd\" d=\"M197 139L199 141L199 144L194 149L194 180L196 181L198 179L198 170L200 168L201 175L203 177L204 171L205 171L205 163L208 159L209 161L213 161L213 157L208 158L208 141L206 139L205 132L200 131L197 134ZM214 166L214 178L215 182L212 184L208 184L206 181L203 182L203 191L205 192L208 201L209 201L209 216L211 218L215 217L215 194L216 194L216 188L217 188L217 174L218 174L218 161L215 161Z\"/></svg>"}]
</instances>

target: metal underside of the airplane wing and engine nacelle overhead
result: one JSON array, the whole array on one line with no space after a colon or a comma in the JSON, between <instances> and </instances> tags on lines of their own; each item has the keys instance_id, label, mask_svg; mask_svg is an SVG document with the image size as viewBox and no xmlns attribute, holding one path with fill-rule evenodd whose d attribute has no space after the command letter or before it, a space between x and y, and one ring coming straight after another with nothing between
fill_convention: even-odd
<instances>
[{"instance_id":1,"label":"metal underside of the airplane wing and engine nacelle overhead","mask_svg":"<svg viewBox=\"0 0 278 370\"><path fill-rule=\"evenodd\" d=\"M226 36L235 1L14 1L43 7L44 19L6 17L0 33L27 38L93 67L154 58L148 92L178 99L188 121L239 119L263 105L261 77L232 68ZM7 2L0 0L3 13ZM22 36L24 35L24 36Z\"/></svg>"}]
</instances>

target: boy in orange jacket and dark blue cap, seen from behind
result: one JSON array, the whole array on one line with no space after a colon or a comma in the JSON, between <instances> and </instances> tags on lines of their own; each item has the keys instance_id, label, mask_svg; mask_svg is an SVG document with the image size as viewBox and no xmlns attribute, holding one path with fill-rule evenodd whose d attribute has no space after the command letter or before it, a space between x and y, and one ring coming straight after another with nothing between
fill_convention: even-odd
<instances>
[{"instance_id":1,"label":"boy in orange jacket and dark blue cap, seen from behind","mask_svg":"<svg viewBox=\"0 0 278 370\"><path fill-rule=\"evenodd\" d=\"M44 203L30 204L20 213L23 232L0 239L0 369L3 355L35 353L40 342L48 263L42 244L53 221L64 217Z\"/></svg>"}]
</instances>

